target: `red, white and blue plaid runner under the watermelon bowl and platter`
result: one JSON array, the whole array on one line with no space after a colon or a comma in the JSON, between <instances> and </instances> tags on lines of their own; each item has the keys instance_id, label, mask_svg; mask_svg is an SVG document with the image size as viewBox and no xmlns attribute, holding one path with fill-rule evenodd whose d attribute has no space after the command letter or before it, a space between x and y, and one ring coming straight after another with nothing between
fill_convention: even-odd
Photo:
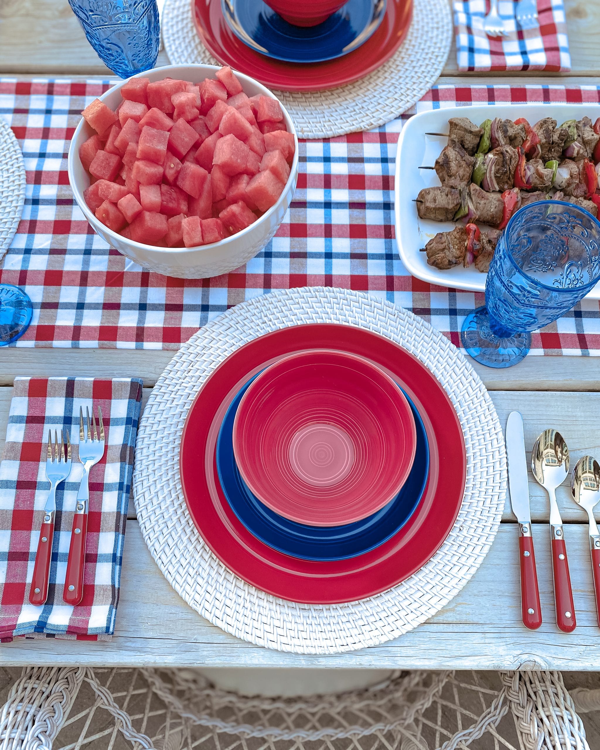
<instances>
[{"instance_id":1,"label":"red, white and blue plaid runner under the watermelon bowl and platter","mask_svg":"<svg viewBox=\"0 0 600 750\"><path fill-rule=\"evenodd\" d=\"M377 130L302 142L295 199L277 236L229 275L184 281L150 273L108 248L74 204L68 142L83 107L109 81L0 80L0 114L23 146L23 220L0 281L23 287L33 323L19 347L176 350L199 326L270 290L324 285L365 291L428 320L460 345L463 317L483 294L431 286L401 263L394 167L402 123L415 111L496 102L598 103L596 86L438 86ZM600 356L598 302L582 302L533 336L532 354Z\"/></svg>"}]
</instances>

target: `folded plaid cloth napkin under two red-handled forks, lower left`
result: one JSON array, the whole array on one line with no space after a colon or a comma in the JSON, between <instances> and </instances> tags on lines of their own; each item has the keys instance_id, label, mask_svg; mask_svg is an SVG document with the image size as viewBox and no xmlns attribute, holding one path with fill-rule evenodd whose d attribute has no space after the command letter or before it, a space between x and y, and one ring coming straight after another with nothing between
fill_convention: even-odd
<instances>
[{"instance_id":1,"label":"folded plaid cloth napkin under two red-handled forks, lower left","mask_svg":"<svg viewBox=\"0 0 600 750\"><path fill-rule=\"evenodd\" d=\"M137 378L26 378L15 380L5 452L0 464L0 640L57 637L110 640L115 628L127 502L133 472L142 381ZM89 515L83 601L62 600L75 500L80 407L101 407L106 450L89 478ZM68 430L71 475L58 485L52 565L46 604L29 604L46 479L48 431Z\"/></svg>"}]
</instances>

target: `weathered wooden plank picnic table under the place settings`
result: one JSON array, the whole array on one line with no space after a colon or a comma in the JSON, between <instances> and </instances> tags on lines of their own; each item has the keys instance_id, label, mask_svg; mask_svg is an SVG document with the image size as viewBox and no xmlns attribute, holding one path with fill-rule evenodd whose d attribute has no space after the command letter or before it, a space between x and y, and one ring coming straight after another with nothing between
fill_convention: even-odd
<instances>
[{"instance_id":1,"label":"weathered wooden plank picnic table under the place settings","mask_svg":"<svg viewBox=\"0 0 600 750\"><path fill-rule=\"evenodd\" d=\"M595 86L600 78L600 3L565 0L571 74L458 74L452 48L439 83L547 83ZM167 65L160 52L157 65ZM108 74L87 43L67 0L0 3L0 74L19 76ZM18 375L142 377L145 399L172 353L149 350L0 350L0 450L13 380ZM475 364L502 424L523 414L526 448L542 429L558 428L573 463L600 457L600 362L586 357L529 356L517 367L493 371ZM548 506L529 477L531 511L544 624L528 631L520 621L517 526L508 499L496 540L481 567L428 622L396 640L332 656L302 656L238 640L202 619L179 598L151 558L130 505L115 635L110 643L17 640L0 646L0 664L172 666L380 667L431 669L600 670L586 519L568 494L557 491L565 522L577 629L554 622ZM598 512L600 520L600 512Z\"/></svg>"}]
</instances>

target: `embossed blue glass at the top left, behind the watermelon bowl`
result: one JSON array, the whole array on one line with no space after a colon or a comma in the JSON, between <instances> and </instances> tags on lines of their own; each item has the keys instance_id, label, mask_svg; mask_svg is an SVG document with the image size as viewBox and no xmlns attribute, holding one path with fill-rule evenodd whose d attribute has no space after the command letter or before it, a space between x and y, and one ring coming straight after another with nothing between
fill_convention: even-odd
<instances>
[{"instance_id":1,"label":"embossed blue glass at the top left, behind the watermelon bowl","mask_svg":"<svg viewBox=\"0 0 600 750\"><path fill-rule=\"evenodd\" d=\"M154 68L160 44L156 0L69 0L89 43L121 78Z\"/></svg>"}]
</instances>

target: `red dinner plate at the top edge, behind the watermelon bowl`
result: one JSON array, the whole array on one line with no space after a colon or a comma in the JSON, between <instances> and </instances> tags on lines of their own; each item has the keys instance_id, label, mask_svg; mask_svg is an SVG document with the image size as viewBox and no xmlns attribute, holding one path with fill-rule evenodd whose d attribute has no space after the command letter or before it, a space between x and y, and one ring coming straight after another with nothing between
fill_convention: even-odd
<instances>
[{"instance_id":1,"label":"red dinner plate at the top edge, behind the watermelon bowl","mask_svg":"<svg viewBox=\"0 0 600 750\"><path fill-rule=\"evenodd\" d=\"M413 0L388 0L379 28L359 49L335 60L298 64L266 57L246 46L229 28L220 4L221 0L192 0L192 17L204 46L223 65L290 92L335 89L364 78L392 57L413 17Z\"/></svg>"}]
</instances>

